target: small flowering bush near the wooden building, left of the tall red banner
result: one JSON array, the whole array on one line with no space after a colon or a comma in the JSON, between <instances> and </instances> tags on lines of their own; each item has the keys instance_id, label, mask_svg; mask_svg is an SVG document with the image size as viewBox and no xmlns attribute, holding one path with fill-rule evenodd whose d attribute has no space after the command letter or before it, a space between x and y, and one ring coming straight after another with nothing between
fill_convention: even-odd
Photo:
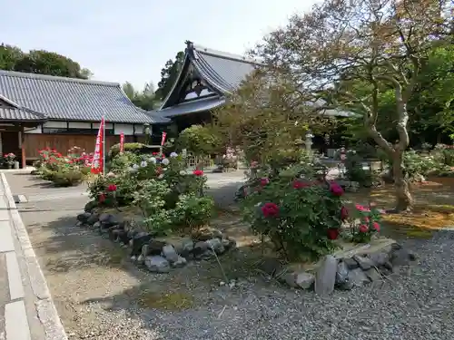
<instances>
[{"instance_id":1,"label":"small flowering bush near the wooden building, left of the tall red banner","mask_svg":"<svg viewBox=\"0 0 454 340\"><path fill-rule=\"evenodd\" d=\"M60 152L46 148L39 151L39 159L35 161L37 174L44 180L51 180L55 186L68 187L81 183L90 172L93 154L73 147L66 156Z\"/></svg>"}]
</instances>

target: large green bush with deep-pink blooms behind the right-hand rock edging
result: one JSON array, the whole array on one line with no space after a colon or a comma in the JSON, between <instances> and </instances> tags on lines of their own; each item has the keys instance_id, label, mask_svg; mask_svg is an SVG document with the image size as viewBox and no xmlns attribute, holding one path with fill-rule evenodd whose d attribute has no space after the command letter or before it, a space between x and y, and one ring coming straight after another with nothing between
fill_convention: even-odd
<instances>
[{"instance_id":1,"label":"large green bush with deep-pink blooms behind the right-hand rock edging","mask_svg":"<svg viewBox=\"0 0 454 340\"><path fill-rule=\"evenodd\" d=\"M329 253L342 223L343 189L295 176L297 166L262 178L243 200L243 218L291 260Z\"/></svg>"}]
</instances>

